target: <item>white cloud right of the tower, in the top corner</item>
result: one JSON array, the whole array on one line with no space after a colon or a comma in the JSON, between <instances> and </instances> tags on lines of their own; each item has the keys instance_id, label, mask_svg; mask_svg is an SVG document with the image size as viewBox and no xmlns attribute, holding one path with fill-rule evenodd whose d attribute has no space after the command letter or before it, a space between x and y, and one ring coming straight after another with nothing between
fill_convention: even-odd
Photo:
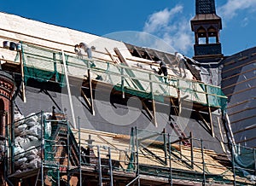
<instances>
[{"instance_id":1,"label":"white cloud right of the tower, in the top corner","mask_svg":"<svg viewBox=\"0 0 256 186\"><path fill-rule=\"evenodd\" d=\"M223 6L218 8L218 13L224 20L231 20L236 15L238 11L248 10L249 12L256 11L256 1L255 0L228 0Z\"/></svg>"}]
</instances>

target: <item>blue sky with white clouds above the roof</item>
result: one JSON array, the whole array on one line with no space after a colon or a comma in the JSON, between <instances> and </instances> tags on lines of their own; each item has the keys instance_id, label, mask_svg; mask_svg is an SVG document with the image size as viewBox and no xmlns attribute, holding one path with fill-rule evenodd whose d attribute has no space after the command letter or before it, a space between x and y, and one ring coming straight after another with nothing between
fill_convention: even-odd
<instances>
[{"instance_id":1,"label":"blue sky with white clouds above the roof","mask_svg":"<svg viewBox=\"0 0 256 186\"><path fill-rule=\"evenodd\" d=\"M215 0L215 4L222 18L223 54L256 46L256 0ZM143 32L163 40L171 52L194 55L190 20L195 0L1 0L0 11L131 44L134 41L119 33ZM143 47L158 49L160 44Z\"/></svg>"}]
</instances>

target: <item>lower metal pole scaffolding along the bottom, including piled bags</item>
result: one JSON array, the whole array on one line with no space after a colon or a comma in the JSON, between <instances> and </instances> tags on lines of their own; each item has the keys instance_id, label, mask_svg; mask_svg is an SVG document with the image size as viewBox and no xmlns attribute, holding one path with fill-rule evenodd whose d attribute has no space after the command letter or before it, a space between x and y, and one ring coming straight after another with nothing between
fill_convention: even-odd
<instances>
[{"instance_id":1,"label":"lower metal pole scaffolding along the bottom, including piled bags","mask_svg":"<svg viewBox=\"0 0 256 186\"><path fill-rule=\"evenodd\" d=\"M72 130L65 115L46 115L34 113L6 126L6 180L14 185L255 184L253 148L233 146L217 154L203 148L206 140L191 136L188 147L165 131L135 127L129 137Z\"/></svg>"}]
</instances>

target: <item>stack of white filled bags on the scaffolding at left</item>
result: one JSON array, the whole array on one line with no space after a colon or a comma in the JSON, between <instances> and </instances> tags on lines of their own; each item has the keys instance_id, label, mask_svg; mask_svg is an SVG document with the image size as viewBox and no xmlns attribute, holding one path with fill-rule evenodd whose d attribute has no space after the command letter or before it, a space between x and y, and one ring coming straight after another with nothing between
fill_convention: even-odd
<instances>
[{"instance_id":1,"label":"stack of white filled bags on the scaffolding at left","mask_svg":"<svg viewBox=\"0 0 256 186\"><path fill-rule=\"evenodd\" d=\"M49 119L44 113L43 119ZM41 115L30 113L26 118L15 113L15 170L26 171L41 165L42 137L50 137L50 122L41 122Z\"/></svg>"}]
</instances>

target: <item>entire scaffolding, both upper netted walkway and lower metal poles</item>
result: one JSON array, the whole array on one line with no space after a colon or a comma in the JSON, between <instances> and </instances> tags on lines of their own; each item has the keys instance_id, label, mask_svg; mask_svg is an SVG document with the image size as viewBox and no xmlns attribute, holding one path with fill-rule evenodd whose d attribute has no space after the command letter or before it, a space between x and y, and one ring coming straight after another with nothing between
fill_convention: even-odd
<instances>
[{"instance_id":1,"label":"entire scaffolding, both upper netted walkway and lower metal poles","mask_svg":"<svg viewBox=\"0 0 256 186\"><path fill-rule=\"evenodd\" d=\"M71 79L82 79L81 93L92 114L92 85L96 83L112 86L123 96L151 100L152 104L168 98L172 105L177 106L177 115L181 100L193 102L197 110L206 109L210 116L213 110L221 108L224 111L226 108L226 96L219 87L174 76L169 76L166 84L161 76L129 67L125 62L93 60L96 67L90 67L91 61L86 57L29 44L23 44L15 61L22 64L24 85L30 79L36 79L64 87L68 85L67 75ZM90 89L89 98L84 87ZM26 97L24 90L22 93ZM143 107L149 114L145 103ZM156 120L152 108L153 113L149 115ZM250 179L253 180L256 174L255 149L232 145L230 153L216 154L203 148L205 140L184 136L175 123L172 123L172 128L179 140L172 141L171 134L165 131L158 133L131 128L131 137L86 131L80 129L83 121L78 120L78 129L72 129L64 116L47 118L41 112L7 125L6 179L13 183L23 180L26 184L33 177L35 185L84 185L86 182L101 186L151 182L171 185L186 182L253 184ZM35 127L32 121L39 125ZM33 135L27 134L28 128L32 127ZM208 128L212 129L212 124ZM21 139L15 132L21 133Z\"/></svg>"}]
</instances>

